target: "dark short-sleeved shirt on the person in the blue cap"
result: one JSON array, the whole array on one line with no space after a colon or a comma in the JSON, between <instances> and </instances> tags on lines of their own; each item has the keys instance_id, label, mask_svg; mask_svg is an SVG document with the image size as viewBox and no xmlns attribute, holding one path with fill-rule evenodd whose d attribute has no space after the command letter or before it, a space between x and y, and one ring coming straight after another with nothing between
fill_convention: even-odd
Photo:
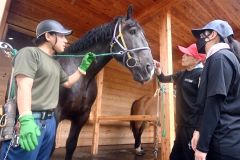
<instances>
[{"instance_id":1,"label":"dark short-sleeved shirt on the person in the blue cap","mask_svg":"<svg viewBox=\"0 0 240 160\"><path fill-rule=\"evenodd\" d=\"M198 104L205 108L205 100L223 95L218 107L220 120L212 135L210 149L223 155L239 157L240 152L240 65L236 56L223 49L209 57L201 76ZM208 106L212 107L212 106ZM212 115L215 116L215 115Z\"/></svg>"}]
</instances>

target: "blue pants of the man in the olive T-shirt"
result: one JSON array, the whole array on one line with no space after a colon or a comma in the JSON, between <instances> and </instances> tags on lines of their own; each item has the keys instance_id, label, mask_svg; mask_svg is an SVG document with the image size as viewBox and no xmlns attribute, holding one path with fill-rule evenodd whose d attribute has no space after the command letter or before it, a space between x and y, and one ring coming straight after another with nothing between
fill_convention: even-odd
<instances>
[{"instance_id":1,"label":"blue pants of the man in the olive T-shirt","mask_svg":"<svg viewBox=\"0 0 240 160\"><path fill-rule=\"evenodd\" d=\"M41 136L38 137L38 146L33 151L25 151L20 146L11 147L7 160L50 160L50 155L55 141L56 120L54 116L50 119L40 120L35 119L41 130ZM3 160L10 141L5 141L2 144L0 159Z\"/></svg>"}]
</instances>

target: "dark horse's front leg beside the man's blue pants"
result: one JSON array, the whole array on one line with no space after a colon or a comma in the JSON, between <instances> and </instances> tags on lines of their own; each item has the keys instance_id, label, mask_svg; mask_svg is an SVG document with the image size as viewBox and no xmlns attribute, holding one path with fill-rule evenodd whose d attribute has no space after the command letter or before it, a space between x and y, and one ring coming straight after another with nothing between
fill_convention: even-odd
<instances>
[{"instance_id":1,"label":"dark horse's front leg beside the man's blue pants","mask_svg":"<svg viewBox=\"0 0 240 160\"><path fill-rule=\"evenodd\" d=\"M65 160L71 160L73 152L77 147L78 137L83 125L87 122L90 112L79 115L79 118L72 120L69 136L66 142L66 157Z\"/></svg>"}]
</instances>

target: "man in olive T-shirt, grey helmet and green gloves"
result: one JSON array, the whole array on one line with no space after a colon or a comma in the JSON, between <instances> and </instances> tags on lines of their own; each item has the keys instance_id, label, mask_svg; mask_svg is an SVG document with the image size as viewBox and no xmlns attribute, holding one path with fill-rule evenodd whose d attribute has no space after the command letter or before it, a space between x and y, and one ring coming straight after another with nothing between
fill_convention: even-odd
<instances>
[{"instance_id":1,"label":"man in olive T-shirt, grey helmet and green gloves","mask_svg":"<svg viewBox=\"0 0 240 160\"><path fill-rule=\"evenodd\" d=\"M55 20L44 20L36 28L37 47L19 50L14 60L14 76L20 146L15 148L10 146L9 141L4 142L1 159L50 159L56 134L53 110L58 103L59 85L70 88L86 74L95 59L93 53L88 53L75 73L68 76L63 71L53 56L64 51L68 43L65 36L71 33Z\"/></svg>"}]
</instances>

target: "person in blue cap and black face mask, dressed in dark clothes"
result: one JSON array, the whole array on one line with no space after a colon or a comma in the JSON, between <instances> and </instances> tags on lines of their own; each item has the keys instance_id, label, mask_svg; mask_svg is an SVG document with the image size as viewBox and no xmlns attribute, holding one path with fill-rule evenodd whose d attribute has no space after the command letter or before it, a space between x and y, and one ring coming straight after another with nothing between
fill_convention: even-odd
<instances>
[{"instance_id":1,"label":"person in blue cap and black face mask, dressed in dark clothes","mask_svg":"<svg viewBox=\"0 0 240 160\"><path fill-rule=\"evenodd\" d=\"M197 98L203 115L195 160L239 160L240 64L233 30L214 20L192 33L198 51L207 54Z\"/></svg>"}]
</instances>

